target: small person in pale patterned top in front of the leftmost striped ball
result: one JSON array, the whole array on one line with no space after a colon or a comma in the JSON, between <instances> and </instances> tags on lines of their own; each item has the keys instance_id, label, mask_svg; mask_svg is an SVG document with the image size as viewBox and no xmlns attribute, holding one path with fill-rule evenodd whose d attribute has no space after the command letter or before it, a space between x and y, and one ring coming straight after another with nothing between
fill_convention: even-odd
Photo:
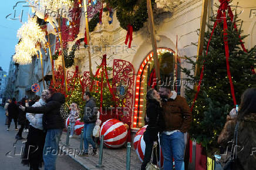
<instances>
[{"instance_id":1,"label":"small person in pale patterned top in front of the leftmost striped ball","mask_svg":"<svg viewBox=\"0 0 256 170\"><path fill-rule=\"evenodd\" d=\"M73 137L75 131L76 120L79 118L80 109L78 108L78 104L72 103L70 104L70 114L69 114L69 124L70 124L70 135L69 138Z\"/></svg>"}]
</instances>

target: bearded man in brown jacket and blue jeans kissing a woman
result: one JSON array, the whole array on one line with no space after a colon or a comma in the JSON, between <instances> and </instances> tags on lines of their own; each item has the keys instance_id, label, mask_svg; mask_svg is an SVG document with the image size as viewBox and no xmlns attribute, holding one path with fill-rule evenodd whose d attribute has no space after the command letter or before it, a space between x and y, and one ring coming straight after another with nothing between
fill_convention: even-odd
<instances>
[{"instance_id":1,"label":"bearded man in brown jacket and blue jeans kissing a woman","mask_svg":"<svg viewBox=\"0 0 256 170\"><path fill-rule=\"evenodd\" d=\"M164 169L173 169L173 158L176 170L184 169L184 133L188 131L192 114L184 97L171 91L169 86L159 89L163 108L164 131L160 135L163 148Z\"/></svg>"}]
</instances>

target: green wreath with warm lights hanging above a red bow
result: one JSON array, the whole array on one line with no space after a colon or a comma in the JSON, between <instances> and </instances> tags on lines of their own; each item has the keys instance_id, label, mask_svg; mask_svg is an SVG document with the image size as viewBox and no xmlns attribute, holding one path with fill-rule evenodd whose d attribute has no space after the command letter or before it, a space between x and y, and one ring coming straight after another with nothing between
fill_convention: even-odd
<instances>
[{"instance_id":1,"label":"green wreath with warm lights hanging above a red bow","mask_svg":"<svg viewBox=\"0 0 256 170\"><path fill-rule=\"evenodd\" d=\"M143 28L143 23L147 21L147 0L105 0L105 2L116 9L116 16L120 26L127 30L127 25L133 26L133 31ZM155 1L151 1L152 8Z\"/></svg>"}]
</instances>

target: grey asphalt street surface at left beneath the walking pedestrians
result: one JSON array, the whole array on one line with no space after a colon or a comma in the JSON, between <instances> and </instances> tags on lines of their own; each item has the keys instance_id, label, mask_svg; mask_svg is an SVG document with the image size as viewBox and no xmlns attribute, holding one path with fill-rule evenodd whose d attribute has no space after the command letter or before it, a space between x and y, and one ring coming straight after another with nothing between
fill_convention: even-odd
<instances>
[{"instance_id":1,"label":"grey asphalt street surface at left beneath the walking pedestrians","mask_svg":"<svg viewBox=\"0 0 256 170\"><path fill-rule=\"evenodd\" d=\"M19 125L18 125L19 127ZM21 150L25 146L22 142L26 140L18 140L16 142L15 135L18 131L14 130L15 125L12 121L9 131L6 131L5 111L0 107L0 170L5 169L29 169L28 166L21 164ZM22 132L22 137L26 138L27 132ZM15 144L16 142L16 144ZM42 167L43 169L43 167ZM57 158L56 169L85 169L83 166L75 162L68 155L59 155Z\"/></svg>"}]
</instances>

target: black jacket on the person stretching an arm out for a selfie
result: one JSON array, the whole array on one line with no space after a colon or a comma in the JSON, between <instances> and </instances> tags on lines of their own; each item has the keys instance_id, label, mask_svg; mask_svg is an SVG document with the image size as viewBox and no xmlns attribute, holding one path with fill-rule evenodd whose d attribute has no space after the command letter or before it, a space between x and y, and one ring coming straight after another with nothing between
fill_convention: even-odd
<instances>
[{"instance_id":1,"label":"black jacket on the person stretching an arm out for a selfie","mask_svg":"<svg viewBox=\"0 0 256 170\"><path fill-rule=\"evenodd\" d=\"M43 128L60 129L65 128L64 120L60 115L60 107L65 103L65 96L61 93L54 93L45 106L26 107L27 113L43 114Z\"/></svg>"}]
</instances>

